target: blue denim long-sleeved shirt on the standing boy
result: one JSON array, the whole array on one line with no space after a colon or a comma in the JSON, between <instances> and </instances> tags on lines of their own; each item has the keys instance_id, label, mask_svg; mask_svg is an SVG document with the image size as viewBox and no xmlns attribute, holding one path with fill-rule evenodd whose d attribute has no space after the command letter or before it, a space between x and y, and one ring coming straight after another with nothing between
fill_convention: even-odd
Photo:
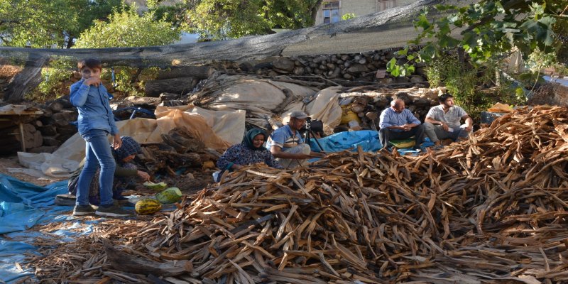
<instances>
[{"instance_id":1,"label":"blue denim long-sleeved shirt on the standing boy","mask_svg":"<svg viewBox=\"0 0 568 284\"><path fill-rule=\"evenodd\" d=\"M119 133L119 129L114 124L114 114L112 114L109 104L109 92L102 85L99 87L87 86L83 84L84 79L71 85L71 104L77 107L79 117L77 118L77 128L83 135L92 129L108 131L112 135Z\"/></svg>"}]
</instances>

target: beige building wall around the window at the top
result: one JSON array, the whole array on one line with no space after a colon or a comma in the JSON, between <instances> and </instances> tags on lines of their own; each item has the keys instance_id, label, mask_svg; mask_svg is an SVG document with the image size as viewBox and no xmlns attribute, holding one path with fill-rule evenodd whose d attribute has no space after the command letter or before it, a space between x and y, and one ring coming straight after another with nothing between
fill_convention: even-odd
<instances>
[{"instance_id":1,"label":"beige building wall around the window at the top","mask_svg":"<svg viewBox=\"0 0 568 284\"><path fill-rule=\"evenodd\" d=\"M346 13L354 13L355 16L363 16L368 13L383 11L388 7L404 6L416 2L417 0L325 0L322 7L317 11L315 24L324 23L323 7L332 2L339 2L339 20Z\"/></svg>"}]
</instances>

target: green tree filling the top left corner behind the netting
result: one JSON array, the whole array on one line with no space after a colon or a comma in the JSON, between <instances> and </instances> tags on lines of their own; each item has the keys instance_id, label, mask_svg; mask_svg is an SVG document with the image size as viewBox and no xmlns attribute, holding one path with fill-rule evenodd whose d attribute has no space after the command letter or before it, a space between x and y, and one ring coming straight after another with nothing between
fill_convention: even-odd
<instances>
[{"instance_id":1,"label":"green tree filling the top left corner behind the netting","mask_svg":"<svg viewBox=\"0 0 568 284\"><path fill-rule=\"evenodd\" d=\"M121 0L0 0L0 40L3 45L70 48L75 38L121 10Z\"/></svg>"}]
</instances>

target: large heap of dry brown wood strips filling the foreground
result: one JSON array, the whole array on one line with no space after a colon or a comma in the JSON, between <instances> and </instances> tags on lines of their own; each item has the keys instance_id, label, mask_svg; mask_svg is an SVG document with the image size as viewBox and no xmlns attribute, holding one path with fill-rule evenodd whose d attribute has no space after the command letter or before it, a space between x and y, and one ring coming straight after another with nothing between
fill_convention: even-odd
<instances>
[{"instance_id":1,"label":"large heap of dry brown wood strips filling the foreground","mask_svg":"<svg viewBox=\"0 0 568 284\"><path fill-rule=\"evenodd\" d=\"M566 281L567 123L566 108L519 109L424 155L251 166L139 229L124 250L106 246L99 270L173 283Z\"/></svg>"}]
</instances>

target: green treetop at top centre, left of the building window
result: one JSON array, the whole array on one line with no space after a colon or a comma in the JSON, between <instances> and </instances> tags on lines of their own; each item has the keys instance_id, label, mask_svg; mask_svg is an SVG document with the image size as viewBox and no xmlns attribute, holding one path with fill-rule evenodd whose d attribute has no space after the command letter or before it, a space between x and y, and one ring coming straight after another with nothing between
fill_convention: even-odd
<instances>
[{"instance_id":1,"label":"green treetop at top centre, left of the building window","mask_svg":"<svg viewBox=\"0 0 568 284\"><path fill-rule=\"evenodd\" d=\"M205 39L272 33L311 26L321 0L202 0L187 11L185 28Z\"/></svg>"}]
</instances>

